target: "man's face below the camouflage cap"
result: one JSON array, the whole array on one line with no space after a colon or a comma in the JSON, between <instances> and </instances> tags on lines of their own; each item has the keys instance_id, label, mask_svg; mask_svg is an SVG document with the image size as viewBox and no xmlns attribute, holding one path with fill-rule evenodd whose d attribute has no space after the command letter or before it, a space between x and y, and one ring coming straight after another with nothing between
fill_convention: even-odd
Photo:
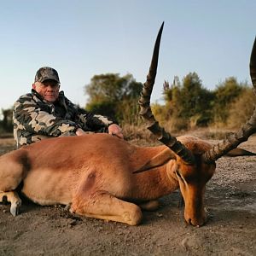
<instances>
[{"instance_id":1,"label":"man's face below the camouflage cap","mask_svg":"<svg viewBox=\"0 0 256 256\"><path fill-rule=\"evenodd\" d=\"M55 102L59 96L60 84L55 80L45 80L43 83L32 84L32 88L47 102Z\"/></svg>"}]
</instances>

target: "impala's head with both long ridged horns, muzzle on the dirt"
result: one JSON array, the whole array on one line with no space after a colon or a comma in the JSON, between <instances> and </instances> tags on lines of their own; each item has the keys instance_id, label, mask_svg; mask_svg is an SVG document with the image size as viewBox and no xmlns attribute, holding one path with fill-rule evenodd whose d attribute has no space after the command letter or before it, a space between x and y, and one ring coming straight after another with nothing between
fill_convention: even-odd
<instances>
[{"instance_id":1,"label":"impala's head with both long ridged horns, muzzle on the dirt","mask_svg":"<svg viewBox=\"0 0 256 256\"><path fill-rule=\"evenodd\" d=\"M154 86L154 79L157 72L158 56L160 49L160 38L164 23L160 27L160 32L154 45L154 53L147 76L147 81L143 84L143 91L139 100L140 114L148 123L148 130L154 133L161 143L170 148L170 159L175 159L176 164L172 165L171 175L177 178L183 199L185 201L184 217L189 224L202 225L206 221L204 210L204 192L207 181L215 171L215 161L227 154L231 149L236 148L240 143L247 141L256 132L256 108L252 117L241 130L231 134L227 139L212 147L207 142L200 142L197 146L189 143L180 143L176 137L172 137L169 132L160 127L154 119L150 108L150 96ZM256 39L250 61L250 74L253 87L256 90ZM165 160L166 161L166 160ZM168 164L167 164L168 165ZM149 169L149 168L148 168ZM147 170L147 166L138 172Z\"/></svg>"}]
</instances>

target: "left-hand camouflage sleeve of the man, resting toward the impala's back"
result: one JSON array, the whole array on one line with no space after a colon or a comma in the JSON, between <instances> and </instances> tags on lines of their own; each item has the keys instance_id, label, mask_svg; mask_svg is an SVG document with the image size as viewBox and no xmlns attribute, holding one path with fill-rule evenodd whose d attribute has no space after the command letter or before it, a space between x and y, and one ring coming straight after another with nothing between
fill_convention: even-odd
<instances>
[{"instance_id":1,"label":"left-hand camouflage sleeve of the man, resting toward the impala's back","mask_svg":"<svg viewBox=\"0 0 256 256\"><path fill-rule=\"evenodd\" d=\"M50 137L58 137L68 131L75 132L79 128L73 121L43 111L29 96L20 97L15 102L14 122L18 129Z\"/></svg>"}]
</instances>

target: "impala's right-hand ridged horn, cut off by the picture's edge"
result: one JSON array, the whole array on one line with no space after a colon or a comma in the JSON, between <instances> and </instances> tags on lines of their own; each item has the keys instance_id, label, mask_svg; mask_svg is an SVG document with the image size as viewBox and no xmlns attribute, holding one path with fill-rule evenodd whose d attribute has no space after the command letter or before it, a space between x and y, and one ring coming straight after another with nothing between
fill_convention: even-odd
<instances>
[{"instance_id":1,"label":"impala's right-hand ridged horn, cut off by the picture's edge","mask_svg":"<svg viewBox=\"0 0 256 256\"><path fill-rule=\"evenodd\" d=\"M251 59L250 59L250 75L256 92L256 38L254 39ZM230 134L226 139L218 143L216 146L208 150L202 155L202 159L206 163L218 160L218 158L227 154L231 149L236 148L240 143L246 142L248 137L256 132L256 104L253 115L247 120L245 125L241 126L241 130Z\"/></svg>"}]
</instances>

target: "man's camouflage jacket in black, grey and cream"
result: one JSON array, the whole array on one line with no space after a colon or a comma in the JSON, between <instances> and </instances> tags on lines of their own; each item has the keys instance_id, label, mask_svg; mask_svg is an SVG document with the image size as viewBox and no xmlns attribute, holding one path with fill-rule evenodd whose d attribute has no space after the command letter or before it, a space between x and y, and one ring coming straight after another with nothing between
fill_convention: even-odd
<instances>
[{"instance_id":1,"label":"man's camouflage jacket in black, grey and cream","mask_svg":"<svg viewBox=\"0 0 256 256\"><path fill-rule=\"evenodd\" d=\"M14 136L17 148L47 137L75 135L84 131L107 132L112 119L85 111L61 91L57 102L46 102L35 90L20 96L14 105Z\"/></svg>"}]
</instances>

